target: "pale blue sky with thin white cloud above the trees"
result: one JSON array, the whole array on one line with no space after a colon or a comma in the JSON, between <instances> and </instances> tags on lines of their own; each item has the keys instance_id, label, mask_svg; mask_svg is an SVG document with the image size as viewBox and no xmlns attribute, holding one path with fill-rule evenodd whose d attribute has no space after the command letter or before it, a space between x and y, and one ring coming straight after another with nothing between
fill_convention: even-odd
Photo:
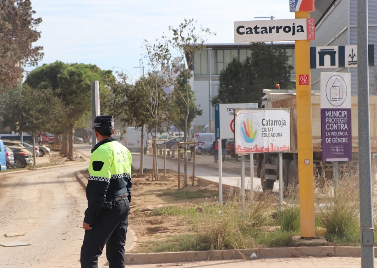
<instances>
[{"instance_id":1,"label":"pale blue sky with thin white cloud above the trees","mask_svg":"<svg viewBox=\"0 0 377 268\"><path fill-rule=\"evenodd\" d=\"M44 46L38 66L61 60L124 71L135 81L142 74L143 40L150 43L186 19L216 36L206 43L233 43L233 22L257 16L293 19L289 0L32 0ZM29 69L30 70L30 69Z\"/></svg>"}]
</instances>

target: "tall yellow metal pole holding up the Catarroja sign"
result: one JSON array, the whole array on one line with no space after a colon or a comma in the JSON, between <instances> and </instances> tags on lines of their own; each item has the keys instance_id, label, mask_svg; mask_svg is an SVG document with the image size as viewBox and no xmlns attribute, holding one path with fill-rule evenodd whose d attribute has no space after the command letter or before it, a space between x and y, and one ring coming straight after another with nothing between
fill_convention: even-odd
<instances>
[{"instance_id":1,"label":"tall yellow metal pole holding up the Catarroja sign","mask_svg":"<svg viewBox=\"0 0 377 268\"><path fill-rule=\"evenodd\" d=\"M295 12L295 18L308 19L310 12ZM314 221L313 137L311 129L310 40L296 40L295 47L300 233L302 238L311 238L316 236L316 226ZM308 81L305 81L305 79Z\"/></svg>"}]
</instances>

